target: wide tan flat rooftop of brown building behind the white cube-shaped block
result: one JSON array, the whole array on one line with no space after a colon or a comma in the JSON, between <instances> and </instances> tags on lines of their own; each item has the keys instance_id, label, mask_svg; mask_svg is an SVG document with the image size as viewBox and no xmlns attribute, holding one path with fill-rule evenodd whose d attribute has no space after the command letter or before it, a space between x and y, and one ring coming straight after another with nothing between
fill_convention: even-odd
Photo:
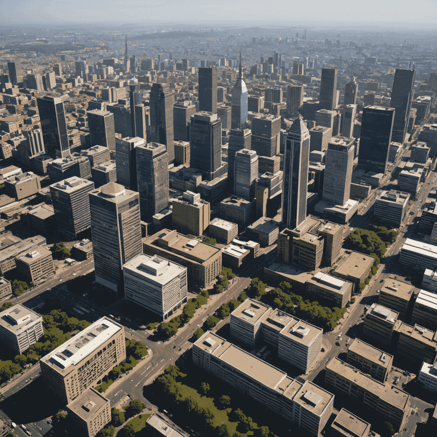
<instances>
[{"instance_id":1,"label":"wide tan flat rooftop of brown building behind the white cube-shaped block","mask_svg":"<svg viewBox=\"0 0 437 437\"><path fill-rule=\"evenodd\" d=\"M146 246L156 246L161 250L175 253L182 257L203 263L221 251L218 247L211 246L197 239L191 239L175 230L162 229L156 234L143 239Z\"/></svg>"}]
</instances>

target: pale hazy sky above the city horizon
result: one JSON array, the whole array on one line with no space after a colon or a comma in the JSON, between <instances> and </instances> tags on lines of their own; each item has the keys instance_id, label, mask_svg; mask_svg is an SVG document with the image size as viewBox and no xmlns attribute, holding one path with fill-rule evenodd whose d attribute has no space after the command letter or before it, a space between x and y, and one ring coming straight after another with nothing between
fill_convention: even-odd
<instances>
[{"instance_id":1,"label":"pale hazy sky above the city horizon","mask_svg":"<svg viewBox=\"0 0 437 437\"><path fill-rule=\"evenodd\" d=\"M437 0L3 0L0 23L20 21L111 22L123 24L217 23L289 24L312 21L350 23L437 23ZM130 16L132 11L132 16ZM224 23L223 23L224 24Z\"/></svg>"}]
</instances>

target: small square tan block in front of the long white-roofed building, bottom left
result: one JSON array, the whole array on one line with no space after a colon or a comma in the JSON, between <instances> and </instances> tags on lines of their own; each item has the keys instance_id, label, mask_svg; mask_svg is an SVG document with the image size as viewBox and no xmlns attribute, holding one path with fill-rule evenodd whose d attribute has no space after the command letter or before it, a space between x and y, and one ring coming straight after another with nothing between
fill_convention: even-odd
<instances>
[{"instance_id":1,"label":"small square tan block in front of the long white-roofed building, bottom left","mask_svg":"<svg viewBox=\"0 0 437 437\"><path fill-rule=\"evenodd\" d=\"M66 409L69 420L82 436L94 437L111 422L111 402L92 387L70 402Z\"/></svg>"}]
</instances>

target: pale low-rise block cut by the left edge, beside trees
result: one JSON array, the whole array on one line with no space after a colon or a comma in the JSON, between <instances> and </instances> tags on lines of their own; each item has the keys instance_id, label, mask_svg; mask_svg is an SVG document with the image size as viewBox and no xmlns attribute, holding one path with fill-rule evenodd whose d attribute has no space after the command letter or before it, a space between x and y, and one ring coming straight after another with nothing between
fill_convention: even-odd
<instances>
[{"instance_id":1,"label":"pale low-rise block cut by the left edge, beside trees","mask_svg":"<svg viewBox=\"0 0 437 437\"><path fill-rule=\"evenodd\" d=\"M0 340L18 355L42 336L42 317L21 304L0 312Z\"/></svg>"}]
</instances>

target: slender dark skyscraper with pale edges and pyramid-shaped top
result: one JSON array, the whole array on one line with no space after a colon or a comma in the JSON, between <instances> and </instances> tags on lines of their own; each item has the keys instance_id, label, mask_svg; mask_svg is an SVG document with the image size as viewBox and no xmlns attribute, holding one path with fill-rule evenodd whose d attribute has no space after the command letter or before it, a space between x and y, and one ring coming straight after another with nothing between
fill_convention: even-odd
<instances>
[{"instance_id":1,"label":"slender dark skyscraper with pale edges and pyramid-shaped top","mask_svg":"<svg viewBox=\"0 0 437 437\"><path fill-rule=\"evenodd\" d=\"M306 219L306 193L309 167L309 132L302 116L293 121L284 149L282 183L282 224L295 229Z\"/></svg>"}]
</instances>

